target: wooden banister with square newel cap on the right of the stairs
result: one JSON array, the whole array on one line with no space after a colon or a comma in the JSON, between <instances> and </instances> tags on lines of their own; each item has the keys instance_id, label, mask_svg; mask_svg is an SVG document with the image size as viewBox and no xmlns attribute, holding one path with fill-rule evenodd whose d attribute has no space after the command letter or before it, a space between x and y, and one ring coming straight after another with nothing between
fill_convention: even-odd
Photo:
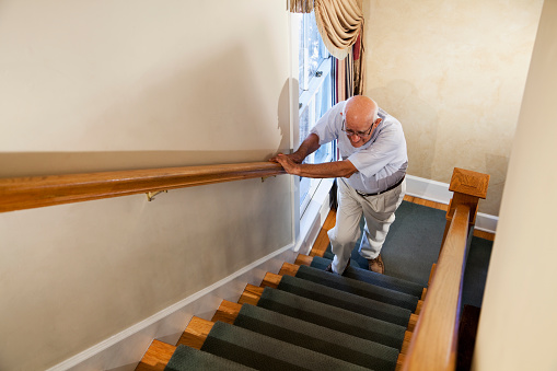
<instances>
[{"instance_id":1,"label":"wooden banister with square newel cap on the right of the stairs","mask_svg":"<svg viewBox=\"0 0 557 371\"><path fill-rule=\"evenodd\" d=\"M439 260L416 324L404 371L452 371L456 367L462 279L469 228L479 198L485 198L489 175L455 169L450 190L453 199Z\"/></svg>"}]
</instances>

